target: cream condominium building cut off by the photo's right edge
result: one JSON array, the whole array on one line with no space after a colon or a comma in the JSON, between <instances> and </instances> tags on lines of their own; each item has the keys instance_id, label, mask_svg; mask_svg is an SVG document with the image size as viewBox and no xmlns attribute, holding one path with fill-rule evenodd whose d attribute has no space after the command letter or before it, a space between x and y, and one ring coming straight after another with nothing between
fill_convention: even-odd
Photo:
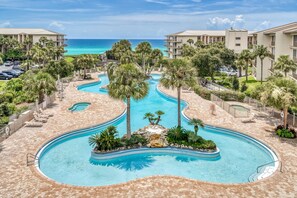
<instances>
[{"instance_id":1,"label":"cream condominium building cut off by the photo's right edge","mask_svg":"<svg viewBox=\"0 0 297 198\"><path fill-rule=\"evenodd\" d=\"M263 61L263 79L272 73L273 66L281 55L288 55L297 63L297 22L255 32L257 45L268 48L273 57L265 58ZM257 80L261 79L261 61L257 58L254 68ZM296 72L290 73L291 77L297 79Z\"/></svg>"}]
</instances>

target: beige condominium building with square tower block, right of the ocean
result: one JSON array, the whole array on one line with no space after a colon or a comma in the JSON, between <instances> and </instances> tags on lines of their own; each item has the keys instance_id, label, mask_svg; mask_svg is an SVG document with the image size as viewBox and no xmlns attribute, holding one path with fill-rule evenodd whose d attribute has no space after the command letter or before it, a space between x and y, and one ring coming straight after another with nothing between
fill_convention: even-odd
<instances>
[{"instance_id":1,"label":"beige condominium building with square tower block, right of the ocean","mask_svg":"<svg viewBox=\"0 0 297 198\"><path fill-rule=\"evenodd\" d=\"M181 48L184 44L194 45L201 41L207 45L210 43L224 42L228 49L240 53L248 49L249 32L247 30L186 30L166 36L166 47L169 58L181 57Z\"/></svg>"}]
</instances>

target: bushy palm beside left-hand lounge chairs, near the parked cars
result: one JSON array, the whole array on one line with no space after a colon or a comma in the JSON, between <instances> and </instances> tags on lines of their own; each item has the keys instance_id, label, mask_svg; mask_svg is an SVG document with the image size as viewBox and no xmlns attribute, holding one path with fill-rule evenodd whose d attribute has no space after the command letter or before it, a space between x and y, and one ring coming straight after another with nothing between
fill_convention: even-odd
<instances>
[{"instance_id":1,"label":"bushy palm beside left-hand lounge chairs, near the parked cars","mask_svg":"<svg viewBox=\"0 0 297 198\"><path fill-rule=\"evenodd\" d=\"M25 79L24 89L37 95L40 104L44 100L44 95L51 95L56 91L56 81L50 74L40 71Z\"/></svg>"}]
</instances>

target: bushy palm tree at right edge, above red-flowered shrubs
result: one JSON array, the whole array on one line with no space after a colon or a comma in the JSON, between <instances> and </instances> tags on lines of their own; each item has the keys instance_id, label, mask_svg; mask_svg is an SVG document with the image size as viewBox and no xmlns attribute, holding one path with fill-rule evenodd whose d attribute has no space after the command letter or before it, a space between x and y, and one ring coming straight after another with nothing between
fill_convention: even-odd
<instances>
[{"instance_id":1,"label":"bushy palm tree at right edge, above red-flowered shrubs","mask_svg":"<svg viewBox=\"0 0 297 198\"><path fill-rule=\"evenodd\" d=\"M296 105L297 84L288 78L272 78L262 85L260 99L264 104L272 105L283 111L284 127L287 128L288 108Z\"/></svg>"}]
</instances>

